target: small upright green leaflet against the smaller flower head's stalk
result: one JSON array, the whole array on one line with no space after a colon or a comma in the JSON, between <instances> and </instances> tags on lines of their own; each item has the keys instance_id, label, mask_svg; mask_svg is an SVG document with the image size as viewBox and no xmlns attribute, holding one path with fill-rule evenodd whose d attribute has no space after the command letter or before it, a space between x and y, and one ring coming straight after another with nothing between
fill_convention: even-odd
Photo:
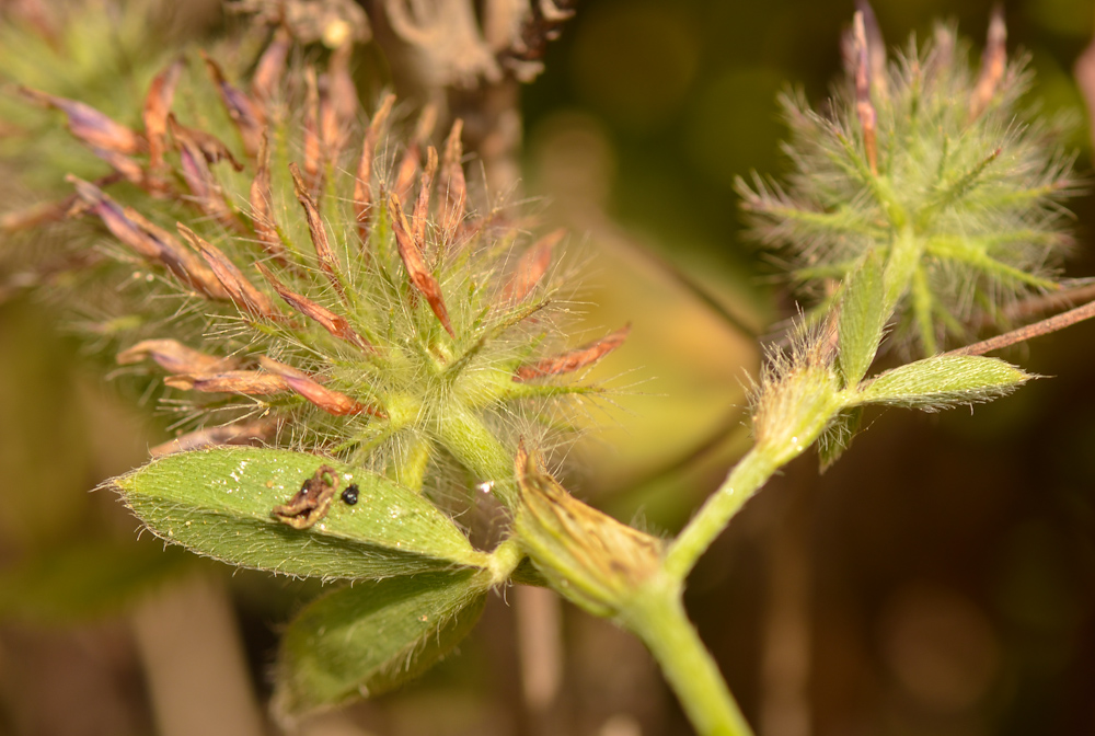
<instances>
[{"instance_id":1,"label":"small upright green leaflet against the smaller flower head's stalk","mask_svg":"<svg viewBox=\"0 0 1095 736\"><path fill-rule=\"evenodd\" d=\"M885 297L881 265L872 251L844 284L840 303L840 371L844 386L863 380L883 338Z\"/></svg>"}]
</instances>

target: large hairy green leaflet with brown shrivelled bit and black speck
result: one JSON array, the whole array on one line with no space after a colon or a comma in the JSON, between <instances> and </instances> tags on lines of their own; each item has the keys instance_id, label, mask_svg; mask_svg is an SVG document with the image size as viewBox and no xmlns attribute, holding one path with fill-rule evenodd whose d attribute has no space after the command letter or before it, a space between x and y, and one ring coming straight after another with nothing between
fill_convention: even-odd
<instances>
[{"instance_id":1,"label":"large hairy green leaflet with brown shrivelled bit and black speck","mask_svg":"<svg viewBox=\"0 0 1095 736\"><path fill-rule=\"evenodd\" d=\"M293 529L272 509L321 465L338 473L326 515ZM158 537L244 567L324 578L379 578L483 565L427 499L385 478L303 452L218 448L170 455L112 481ZM353 506L339 497L358 487Z\"/></svg>"}]
</instances>

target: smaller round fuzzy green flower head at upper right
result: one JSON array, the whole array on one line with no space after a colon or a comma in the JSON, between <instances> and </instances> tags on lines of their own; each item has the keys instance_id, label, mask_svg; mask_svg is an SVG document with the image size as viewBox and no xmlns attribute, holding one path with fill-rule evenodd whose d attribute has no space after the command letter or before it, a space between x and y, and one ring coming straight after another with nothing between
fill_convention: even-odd
<instances>
[{"instance_id":1,"label":"smaller round fuzzy green flower head at upper right","mask_svg":"<svg viewBox=\"0 0 1095 736\"><path fill-rule=\"evenodd\" d=\"M757 235L794 255L802 284L880 256L887 313L927 354L967 338L975 315L999 323L1008 302L1059 288L1072 160L1050 126L1026 119L1030 76L1024 59L1007 61L1005 38L994 14L976 72L949 26L887 64L869 9L856 13L831 113L782 100L786 185L738 183Z\"/></svg>"}]
</instances>

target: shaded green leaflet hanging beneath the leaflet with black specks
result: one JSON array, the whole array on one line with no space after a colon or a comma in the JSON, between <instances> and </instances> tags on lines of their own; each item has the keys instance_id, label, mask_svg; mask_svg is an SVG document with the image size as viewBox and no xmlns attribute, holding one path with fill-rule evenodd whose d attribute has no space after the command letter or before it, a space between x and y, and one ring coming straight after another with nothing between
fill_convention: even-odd
<instances>
[{"instance_id":1,"label":"shaded green leaflet hanging beneath the leaflet with black specks","mask_svg":"<svg viewBox=\"0 0 1095 736\"><path fill-rule=\"evenodd\" d=\"M275 710L291 720L417 677L475 625L488 586L464 570L357 583L314 600L281 640Z\"/></svg>"}]
</instances>

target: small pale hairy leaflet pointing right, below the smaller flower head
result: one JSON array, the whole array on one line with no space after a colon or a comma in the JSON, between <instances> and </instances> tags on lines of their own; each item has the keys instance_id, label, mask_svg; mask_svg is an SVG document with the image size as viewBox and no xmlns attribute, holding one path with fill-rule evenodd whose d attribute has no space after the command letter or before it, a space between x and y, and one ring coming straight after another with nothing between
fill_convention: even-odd
<instances>
[{"instance_id":1,"label":"small pale hairy leaflet pointing right, below the smaller flower head","mask_svg":"<svg viewBox=\"0 0 1095 736\"><path fill-rule=\"evenodd\" d=\"M937 411L990 401L1030 378L1030 373L999 358L936 355L887 370L854 392L848 405L888 404Z\"/></svg>"}]
</instances>

